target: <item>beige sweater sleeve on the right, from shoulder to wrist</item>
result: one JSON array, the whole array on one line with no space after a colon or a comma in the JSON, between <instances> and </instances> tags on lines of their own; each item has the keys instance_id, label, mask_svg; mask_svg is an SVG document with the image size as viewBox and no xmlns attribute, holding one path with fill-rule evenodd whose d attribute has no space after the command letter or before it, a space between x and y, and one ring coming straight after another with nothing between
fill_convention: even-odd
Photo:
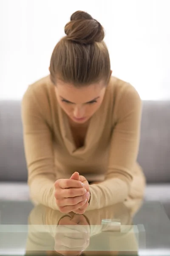
<instances>
[{"instance_id":1,"label":"beige sweater sleeve on the right, from shoulder to wrist","mask_svg":"<svg viewBox=\"0 0 170 256\"><path fill-rule=\"evenodd\" d=\"M142 116L142 100L132 85L123 90L116 113L117 122L111 136L108 171L104 181L90 185L88 210L123 202L130 191L133 166L139 151Z\"/></svg>"}]
</instances>

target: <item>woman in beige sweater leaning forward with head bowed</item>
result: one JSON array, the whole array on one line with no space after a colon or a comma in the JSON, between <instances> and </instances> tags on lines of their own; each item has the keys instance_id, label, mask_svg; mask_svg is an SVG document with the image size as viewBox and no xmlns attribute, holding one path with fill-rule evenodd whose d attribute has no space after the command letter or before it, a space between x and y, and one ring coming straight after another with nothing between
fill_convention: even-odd
<instances>
[{"instance_id":1,"label":"woman in beige sweater leaning forward with head bowed","mask_svg":"<svg viewBox=\"0 0 170 256\"><path fill-rule=\"evenodd\" d=\"M50 75L31 84L22 100L31 198L79 214L142 198L140 96L111 76L104 30L91 15L75 12L65 34Z\"/></svg>"}]
</instances>

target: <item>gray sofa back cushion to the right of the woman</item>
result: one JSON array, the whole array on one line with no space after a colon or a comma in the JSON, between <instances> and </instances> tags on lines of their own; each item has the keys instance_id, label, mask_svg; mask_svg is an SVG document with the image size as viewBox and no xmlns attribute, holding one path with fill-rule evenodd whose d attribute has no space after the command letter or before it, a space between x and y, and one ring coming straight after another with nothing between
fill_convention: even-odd
<instances>
[{"instance_id":1,"label":"gray sofa back cushion to the right of the woman","mask_svg":"<svg viewBox=\"0 0 170 256\"><path fill-rule=\"evenodd\" d=\"M170 183L170 101L143 101L138 162L148 183Z\"/></svg>"}]
</instances>

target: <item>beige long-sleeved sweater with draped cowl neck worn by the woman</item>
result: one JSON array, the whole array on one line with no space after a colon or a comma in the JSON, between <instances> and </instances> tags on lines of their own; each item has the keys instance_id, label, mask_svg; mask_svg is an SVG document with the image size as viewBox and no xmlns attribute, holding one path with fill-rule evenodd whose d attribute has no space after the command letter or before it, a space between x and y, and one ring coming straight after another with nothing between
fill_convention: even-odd
<instances>
[{"instance_id":1,"label":"beige long-sleeved sweater with draped cowl neck worn by the woman","mask_svg":"<svg viewBox=\"0 0 170 256\"><path fill-rule=\"evenodd\" d=\"M68 116L49 76L29 85L22 99L23 138L32 200L58 209L54 182L77 171L90 185L88 210L142 198L145 178L137 163L142 100L129 83L111 77L85 145L76 149Z\"/></svg>"}]
</instances>

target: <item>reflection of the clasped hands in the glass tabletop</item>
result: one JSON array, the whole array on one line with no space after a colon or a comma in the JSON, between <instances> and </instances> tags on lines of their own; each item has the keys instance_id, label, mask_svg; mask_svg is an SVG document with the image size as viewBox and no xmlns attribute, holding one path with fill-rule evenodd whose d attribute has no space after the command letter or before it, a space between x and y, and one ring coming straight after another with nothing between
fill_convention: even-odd
<instances>
[{"instance_id":1,"label":"reflection of the clasped hands in the glass tabletop","mask_svg":"<svg viewBox=\"0 0 170 256\"><path fill-rule=\"evenodd\" d=\"M55 251L64 256L80 255L90 240L90 227L83 215L65 216L56 228Z\"/></svg>"}]
</instances>

